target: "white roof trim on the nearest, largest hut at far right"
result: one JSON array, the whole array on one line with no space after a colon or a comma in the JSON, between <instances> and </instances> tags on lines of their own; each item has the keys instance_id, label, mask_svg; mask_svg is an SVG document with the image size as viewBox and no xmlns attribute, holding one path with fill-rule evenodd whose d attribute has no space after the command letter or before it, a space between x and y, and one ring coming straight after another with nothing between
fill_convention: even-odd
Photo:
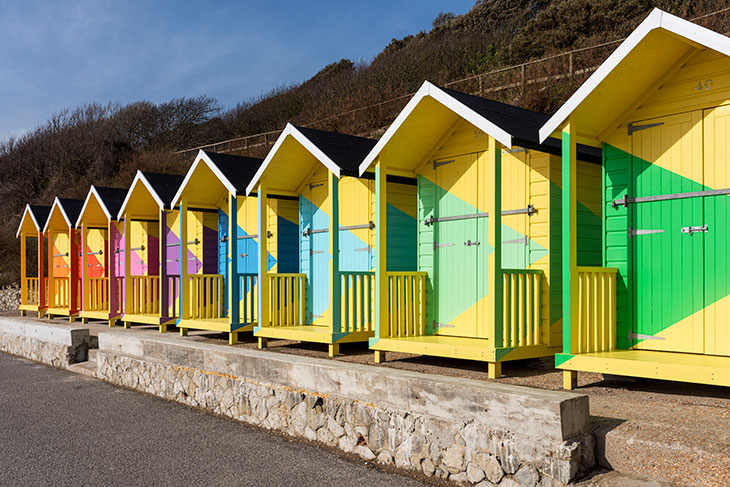
<instances>
[{"instance_id":1,"label":"white roof trim on the nearest, largest hut at far right","mask_svg":"<svg viewBox=\"0 0 730 487\"><path fill-rule=\"evenodd\" d=\"M679 37L730 56L730 39L697 24L655 8L601 66L581 85L560 109L540 128L540 142L550 137L571 113L595 90L626 56L654 29L664 29Z\"/></svg>"}]
</instances>

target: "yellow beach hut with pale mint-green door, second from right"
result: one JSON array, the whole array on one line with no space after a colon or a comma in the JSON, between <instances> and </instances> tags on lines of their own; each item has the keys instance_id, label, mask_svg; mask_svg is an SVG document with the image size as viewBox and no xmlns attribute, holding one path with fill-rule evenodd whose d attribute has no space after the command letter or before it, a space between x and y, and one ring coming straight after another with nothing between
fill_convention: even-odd
<instances>
[{"instance_id":1,"label":"yellow beach hut with pale mint-green door, second from right","mask_svg":"<svg viewBox=\"0 0 730 487\"><path fill-rule=\"evenodd\" d=\"M560 345L560 141L547 116L425 82L364 157L375 171L376 362L405 352L488 362ZM580 259L600 261L600 150L580 148ZM416 259L389 268L388 178L418 181Z\"/></svg>"}]
</instances>

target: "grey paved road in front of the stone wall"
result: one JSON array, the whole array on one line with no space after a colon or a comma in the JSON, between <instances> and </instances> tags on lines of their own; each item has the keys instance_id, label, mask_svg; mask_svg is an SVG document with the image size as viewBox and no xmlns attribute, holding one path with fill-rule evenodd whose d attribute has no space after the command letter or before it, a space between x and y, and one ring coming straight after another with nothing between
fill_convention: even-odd
<instances>
[{"instance_id":1,"label":"grey paved road in front of the stone wall","mask_svg":"<svg viewBox=\"0 0 730 487\"><path fill-rule=\"evenodd\" d=\"M0 485L422 484L0 353Z\"/></svg>"}]
</instances>

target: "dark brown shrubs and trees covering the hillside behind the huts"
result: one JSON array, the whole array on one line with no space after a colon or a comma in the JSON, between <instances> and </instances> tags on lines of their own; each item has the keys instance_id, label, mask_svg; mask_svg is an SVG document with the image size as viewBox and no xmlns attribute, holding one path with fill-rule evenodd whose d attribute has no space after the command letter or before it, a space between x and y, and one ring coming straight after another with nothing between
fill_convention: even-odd
<instances>
[{"instance_id":1,"label":"dark brown shrubs and trees covering the hillside behind the huts","mask_svg":"<svg viewBox=\"0 0 730 487\"><path fill-rule=\"evenodd\" d=\"M191 156L175 155L175 151L279 130L288 121L377 136L405 99L351 116L332 116L403 97L425 79L447 83L620 39L655 6L694 18L727 5L710 0L480 0L464 15L440 14L429 32L393 39L369 63L343 59L301 84L272 89L232 108L222 109L216 100L198 96L158 105L144 101L126 106L91 103L68 109L0 145L4 175L0 186L0 284L18 279L15 231L28 202L50 204L56 195L82 198L90 184L125 187L137 169L183 173ZM711 17L702 23L722 32L722 21ZM590 58L580 62L598 64L614 47L591 51ZM564 69L557 64L541 66L558 72ZM493 97L552 112L582 79L506 90ZM503 82L496 78L484 81ZM468 84L454 88L473 91ZM264 152L259 147L250 155Z\"/></svg>"}]
</instances>

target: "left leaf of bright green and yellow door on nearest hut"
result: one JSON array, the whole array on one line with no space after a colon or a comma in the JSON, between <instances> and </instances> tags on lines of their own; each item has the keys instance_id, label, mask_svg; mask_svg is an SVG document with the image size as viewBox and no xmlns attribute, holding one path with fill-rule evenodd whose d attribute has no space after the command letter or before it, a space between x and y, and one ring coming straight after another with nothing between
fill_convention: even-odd
<instances>
[{"instance_id":1,"label":"left leaf of bright green and yellow door on nearest hut","mask_svg":"<svg viewBox=\"0 0 730 487\"><path fill-rule=\"evenodd\" d=\"M703 189L702 113L632 124L630 196ZM629 205L634 348L704 352L703 198Z\"/></svg>"}]
</instances>

